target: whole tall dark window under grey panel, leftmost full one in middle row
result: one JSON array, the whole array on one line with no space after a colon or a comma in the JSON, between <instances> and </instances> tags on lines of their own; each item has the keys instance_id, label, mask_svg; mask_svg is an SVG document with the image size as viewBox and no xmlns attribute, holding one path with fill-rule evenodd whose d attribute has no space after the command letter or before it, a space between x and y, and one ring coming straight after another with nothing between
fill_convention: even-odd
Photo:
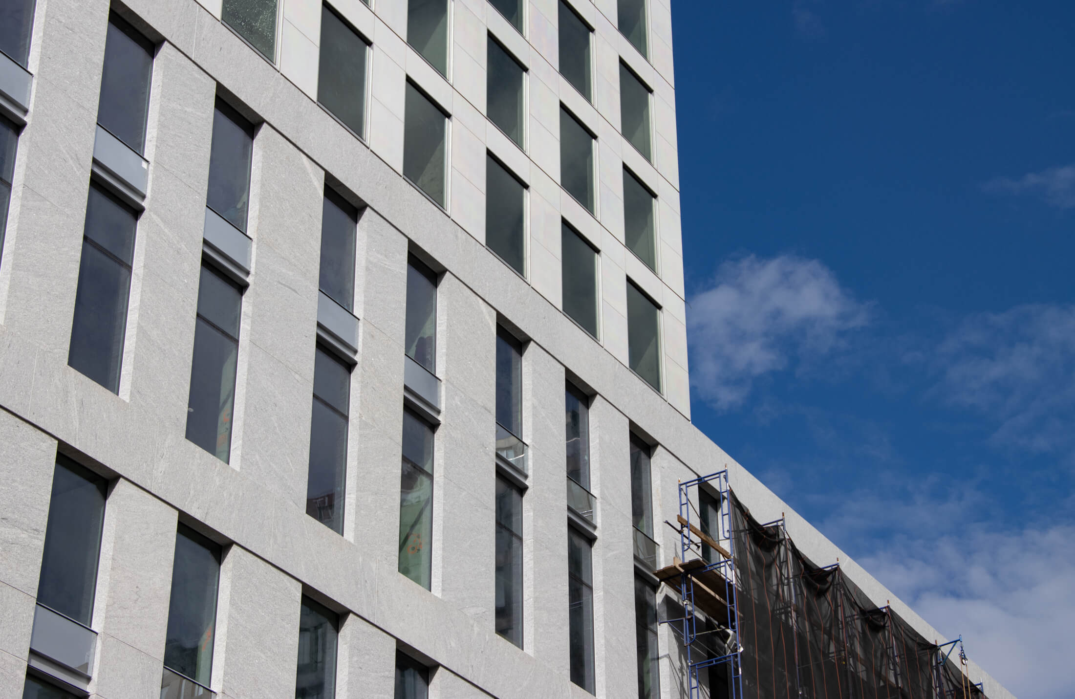
<instances>
[{"instance_id":1,"label":"whole tall dark window under grey panel, leftmost full one in middle row","mask_svg":"<svg viewBox=\"0 0 1075 699\"><path fill-rule=\"evenodd\" d=\"M133 210L90 184L68 365L114 394L119 393L137 226Z\"/></svg>"}]
</instances>

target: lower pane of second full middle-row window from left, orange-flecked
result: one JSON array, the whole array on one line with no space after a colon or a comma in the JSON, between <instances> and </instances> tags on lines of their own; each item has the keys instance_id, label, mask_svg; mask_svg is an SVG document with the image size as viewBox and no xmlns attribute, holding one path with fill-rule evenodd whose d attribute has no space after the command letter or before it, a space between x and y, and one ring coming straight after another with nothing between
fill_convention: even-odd
<instances>
[{"instance_id":1,"label":"lower pane of second full middle-row window from left, orange-flecked","mask_svg":"<svg viewBox=\"0 0 1075 699\"><path fill-rule=\"evenodd\" d=\"M198 318L187 402L187 439L225 463L231 455L238 357L235 340Z\"/></svg>"}]
</instances>

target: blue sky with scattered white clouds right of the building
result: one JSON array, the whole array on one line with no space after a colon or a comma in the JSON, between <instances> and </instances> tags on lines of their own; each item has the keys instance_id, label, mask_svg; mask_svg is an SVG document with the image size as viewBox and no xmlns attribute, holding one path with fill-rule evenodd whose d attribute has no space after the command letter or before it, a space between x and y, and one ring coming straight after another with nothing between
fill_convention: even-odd
<instances>
[{"instance_id":1,"label":"blue sky with scattered white clouds right of the building","mask_svg":"<svg viewBox=\"0 0 1075 699\"><path fill-rule=\"evenodd\" d=\"M672 5L693 422L1075 697L1075 2Z\"/></svg>"}]
</instances>

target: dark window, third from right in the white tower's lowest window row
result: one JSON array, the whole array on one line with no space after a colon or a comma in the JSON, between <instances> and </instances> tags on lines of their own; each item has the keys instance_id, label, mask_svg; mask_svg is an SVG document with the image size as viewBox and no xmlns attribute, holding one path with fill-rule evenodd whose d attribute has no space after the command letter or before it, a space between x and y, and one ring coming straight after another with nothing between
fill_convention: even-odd
<instances>
[{"instance_id":1,"label":"dark window, third from right in the white tower's lowest window row","mask_svg":"<svg viewBox=\"0 0 1075 699\"><path fill-rule=\"evenodd\" d=\"M526 276L526 186L488 154L485 173L485 244Z\"/></svg>"}]
</instances>

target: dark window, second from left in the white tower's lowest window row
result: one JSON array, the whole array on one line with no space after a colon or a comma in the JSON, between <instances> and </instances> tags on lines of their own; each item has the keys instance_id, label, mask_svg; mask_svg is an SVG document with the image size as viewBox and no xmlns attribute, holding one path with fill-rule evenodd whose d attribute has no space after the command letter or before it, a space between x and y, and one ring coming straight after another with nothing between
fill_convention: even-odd
<instances>
[{"instance_id":1,"label":"dark window, second from left in the white tower's lowest window row","mask_svg":"<svg viewBox=\"0 0 1075 699\"><path fill-rule=\"evenodd\" d=\"M343 125L366 135L366 61L369 44L328 5L321 5L317 101Z\"/></svg>"}]
</instances>

